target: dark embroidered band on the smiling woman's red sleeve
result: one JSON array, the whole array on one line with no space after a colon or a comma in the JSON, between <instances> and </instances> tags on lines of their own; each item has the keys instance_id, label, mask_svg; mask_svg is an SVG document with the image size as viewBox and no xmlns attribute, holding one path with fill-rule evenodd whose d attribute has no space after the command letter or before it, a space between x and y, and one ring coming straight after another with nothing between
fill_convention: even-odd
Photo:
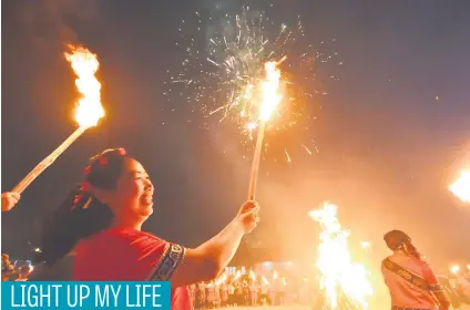
<instances>
[{"instance_id":1,"label":"dark embroidered band on the smiling woman's red sleeve","mask_svg":"<svg viewBox=\"0 0 470 310\"><path fill-rule=\"evenodd\" d=\"M162 257L155 264L149 278L151 281L170 281L172 275L184 260L186 248L167 242Z\"/></svg>"}]
</instances>

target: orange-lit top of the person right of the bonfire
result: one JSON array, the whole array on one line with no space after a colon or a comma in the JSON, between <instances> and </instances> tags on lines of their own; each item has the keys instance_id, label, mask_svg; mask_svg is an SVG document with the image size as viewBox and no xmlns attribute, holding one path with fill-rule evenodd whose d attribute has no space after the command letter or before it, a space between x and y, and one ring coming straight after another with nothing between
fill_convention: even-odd
<instances>
[{"instance_id":1,"label":"orange-lit top of the person right of the bonfire","mask_svg":"<svg viewBox=\"0 0 470 310\"><path fill-rule=\"evenodd\" d=\"M439 290L439 281L427 261L417 259L411 256L398 254L389 256L388 259L409 270L410 272L426 279L428 285L435 287L436 290ZM385 282L390 291L391 306L402 308L435 309L437 301L430 291L419 289L416 286L409 283L397 273L388 270L384 264L381 270L384 273Z\"/></svg>"}]
</instances>

